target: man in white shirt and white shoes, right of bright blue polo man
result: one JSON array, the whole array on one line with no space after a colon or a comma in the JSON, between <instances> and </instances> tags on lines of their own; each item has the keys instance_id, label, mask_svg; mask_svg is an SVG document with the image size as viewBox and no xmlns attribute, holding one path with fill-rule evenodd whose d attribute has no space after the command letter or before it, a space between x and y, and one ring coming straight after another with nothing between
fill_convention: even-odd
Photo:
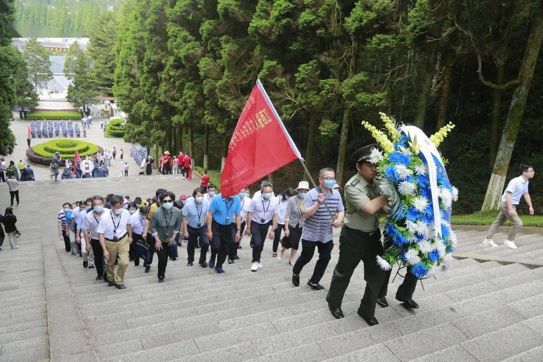
<instances>
[{"instance_id":1,"label":"man in white shirt and white shoes, right of bright blue polo man","mask_svg":"<svg viewBox=\"0 0 543 362\"><path fill-rule=\"evenodd\" d=\"M273 239L277 228L277 208L279 200L273 194L273 185L264 181L261 185L261 195L252 198L247 212L247 229L245 235L251 236L252 264L251 271L262 268L260 256L266 241L266 234L271 223L271 231L268 238Z\"/></svg>"}]
</instances>

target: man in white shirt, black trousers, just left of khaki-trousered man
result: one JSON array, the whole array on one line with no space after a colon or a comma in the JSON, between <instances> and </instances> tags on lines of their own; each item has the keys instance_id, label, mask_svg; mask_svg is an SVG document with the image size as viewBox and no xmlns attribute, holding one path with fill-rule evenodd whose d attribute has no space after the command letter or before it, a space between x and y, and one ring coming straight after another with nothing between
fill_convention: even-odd
<instances>
[{"instance_id":1,"label":"man in white shirt, black trousers, just left of khaki-trousered man","mask_svg":"<svg viewBox=\"0 0 543 362\"><path fill-rule=\"evenodd\" d=\"M85 250L89 257L94 256L94 266L96 268L96 280L104 278L103 258L104 252L100 246L98 236L98 225L104 212L109 212L108 208L104 208L104 198L99 195L94 195L91 198L92 211L87 211L83 221L83 235L85 237ZM83 213L81 213L83 214ZM91 253L92 249L92 253ZM90 268L90 267L89 267Z\"/></svg>"}]
</instances>

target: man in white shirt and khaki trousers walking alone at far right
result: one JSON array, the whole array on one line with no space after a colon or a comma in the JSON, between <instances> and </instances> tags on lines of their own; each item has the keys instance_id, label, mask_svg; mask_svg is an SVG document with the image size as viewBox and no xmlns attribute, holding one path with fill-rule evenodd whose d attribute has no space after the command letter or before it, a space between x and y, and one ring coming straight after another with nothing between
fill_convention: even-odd
<instances>
[{"instance_id":1,"label":"man in white shirt and khaki trousers walking alone at far right","mask_svg":"<svg viewBox=\"0 0 543 362\"><path fill-rule=\"evenodd\" d=\"M503 192L499 205L500 213L498 213L496 220L494 220L494 223L490 226L487 237L483 240L484 245L498 246L494 243L492 237L498 230L498 227L503 226L506 220L509 220L511 221L512 226L509 230L507 239L503 244L506 244L511 249L516 249L515 236L522 227L522 220L516 213L516 206L519 205L521 196L524 196L524 200L526 201L526 204L528 204L530 215L534 214L532 200L530 199L530 194L528 194L528 180L532 179L535 175L534 167L531 164L521 163L519 168L521 175L509 181L506 190Z\"/></svg>"}]
</instances>

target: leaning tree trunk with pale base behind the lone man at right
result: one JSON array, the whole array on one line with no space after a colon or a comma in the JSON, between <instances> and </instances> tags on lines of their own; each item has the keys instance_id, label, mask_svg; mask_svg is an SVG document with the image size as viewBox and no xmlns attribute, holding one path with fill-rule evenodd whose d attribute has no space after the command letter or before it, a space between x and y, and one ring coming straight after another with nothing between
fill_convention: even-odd
<instances>
[{"instance_id":1,"label":"leaning tree trunk with pale base behind the lone man at right","mask_svg":"<svg viewBox=\"0 0 543 362\"><path fill-rule=\"evenodd\" d=\"M487 194L484 196L483 210L496 209L506 181L507 168L515 146L516 136L519 132L520 122L526 106L526 98L534 76L535 64L538 59L543 39L543 5L541 5L532 23L532 29L526 42L526 49L519 70L520 85L513 92L506 123L503 126L500 147L496 154L494 169L488 183Z\"/></svg>"}]
</instances>

